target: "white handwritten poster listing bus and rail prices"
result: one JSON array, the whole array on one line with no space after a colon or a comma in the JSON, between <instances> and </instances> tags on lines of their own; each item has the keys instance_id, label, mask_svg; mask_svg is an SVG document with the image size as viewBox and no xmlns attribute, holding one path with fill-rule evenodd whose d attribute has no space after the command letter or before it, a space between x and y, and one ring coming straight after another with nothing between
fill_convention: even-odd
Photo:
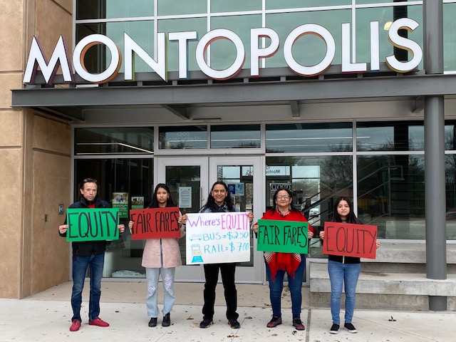
<instances>
[{"instance_id":1,"label":"white handwritten poster listing bus and rail prices","mask_svg":"<svg viewBox=\"0 0 456 342\"><path fill-rule=\"evenodd\" d=\"M187 215L187 265L250 261L247 212Z\"/></svg>"}]
</instances>

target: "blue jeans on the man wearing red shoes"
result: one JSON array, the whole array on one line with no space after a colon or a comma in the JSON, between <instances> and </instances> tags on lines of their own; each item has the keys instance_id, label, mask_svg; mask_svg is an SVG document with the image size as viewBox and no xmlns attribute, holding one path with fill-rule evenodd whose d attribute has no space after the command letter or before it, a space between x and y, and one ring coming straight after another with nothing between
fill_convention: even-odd
<instances>
[{"instance_id":1,"label":"blue jeans on the man wearing red shoes","mask_svg":"<svg viewBox=\"0 0 456 342\"><path fill-rule=\"evenodd\" d=\"M71 321L81 320L81 303L83 301L84 280L87 267L90 265L90 298L88 303L88 320L93 321L100 314L101 277L105 254L92 254L90 257L76 256L73 260L73 293L71 294L71 307L73 318Z\"/></svg>"}]
</instances>

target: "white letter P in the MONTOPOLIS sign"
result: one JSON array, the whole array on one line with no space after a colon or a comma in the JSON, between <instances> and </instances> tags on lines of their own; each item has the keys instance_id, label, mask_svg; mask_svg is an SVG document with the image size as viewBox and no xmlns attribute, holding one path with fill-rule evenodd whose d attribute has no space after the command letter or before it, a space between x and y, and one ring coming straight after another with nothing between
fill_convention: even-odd
<instances>
[{"instance_id":1,"label":"white letter P in the MONTOPOLIS sign","mask_svg":"<svg viewBox=\"0 0 456 342\"><path fill-rule=\"evenodd\" d=\"M259 38L269 38L266 48L259 48ZM250 76L259 76L259 58L274 56L279 51L280 38L272 28L250 28Z\"/></svg>"}]
</instances>

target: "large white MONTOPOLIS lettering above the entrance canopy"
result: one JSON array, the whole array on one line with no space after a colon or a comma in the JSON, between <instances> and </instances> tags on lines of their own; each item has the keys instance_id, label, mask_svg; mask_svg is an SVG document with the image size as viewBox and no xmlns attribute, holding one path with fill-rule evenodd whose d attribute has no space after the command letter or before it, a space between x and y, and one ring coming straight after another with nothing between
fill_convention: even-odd
<instances>
[{"instance_id":1,"label":"large white MONTOPOLIS lettering above the entrance canopy","mask_svg":"<svg viewBox=\"0 0 456 342\"><path fill-rule=\"evenodd\" d=\"M418 43L404 38L399 35L400 29L406 29L413 32L419 24L413 19L403 18L398 19L391 24L388 31L388 39L393 46L409 51L412 58L410 61L398 61L394 55L387 56L385 62L389 68L398 73L406 73L418 66L423 58L423 51ZM296 61L292 50L294 43L305 35L314 35L321 38L326 44L326 54L319 63L314 66L303 66ZM259 44L260 38L269 38L269 46L261 47ZM38 43L38 39L33 37L30 53L24 75L24 83L33 84L35 82L38 66L41 68L43 77L47 83L53 83L53 77L56 75L58 67L61 66L63 73L63 81L73 82L73 71L71 61L73 61L73 70L81 78L91 83L106 83L111 81L119 72L122 60L124 63L124 78L125 81L134 80L134 60L135 56L144 61L147 66L150 66L160 78L167 81L167 41L177 42L179 46L179 78L185 79L188 74L188 41L197 41L196 61L199 69L209 78L214 80L227 80L242 70L246 58L246 50L241 38L225 28L209 31L198 40L197 31L157 33L157 57L152 58L133 38L124 33L124 50L120 51L116 43L101 34L92 34L86 36L78 42L74 48L73 55L70 57L66 49L63 37L60 36L56 47L48 60ZM231 41L236 48L236 58L231 66L224 70L211 68L204 56L207 48L213 41L218 39L227 39ZM261 58L269 58L279 51L280 46L279 35L271 28L251 28L250 29L250 75L260 76L259 60ZM378 21L371 21L371 44L370 44L370 64L368 69L367 63L352 63L351 62L351 24L342 24L341 35L341 63L342 72L344 73L363 73L366 71L378 71L380 69L380 42L379 42L379 24ZM97 44L103 44L110 51L110 63L105 71L101 73L89 73L84 66L84 57L88 49ZM316 76L323 73L331 66L334 56L336 55L336 41L331 32L326 28L316 24L304 24L294 28L289 33L283 44L283 53L286 64L294 73L301 76Z\"/></svg>"}]
</instances>

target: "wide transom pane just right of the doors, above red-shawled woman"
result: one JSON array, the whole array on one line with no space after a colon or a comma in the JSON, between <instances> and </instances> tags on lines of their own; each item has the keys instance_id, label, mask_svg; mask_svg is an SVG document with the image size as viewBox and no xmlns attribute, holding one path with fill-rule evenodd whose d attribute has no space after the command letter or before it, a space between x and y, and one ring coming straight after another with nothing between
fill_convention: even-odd
<instances>
[{"instance_id":1,"label":"wide transom pane just right of the doors, above red-shawled woman","mask_svg":"<svg viewBox=\"0 0 456 342\"><path fill-rule=\"evenodd\" d=\"M351 123L266 125L266 152L348 152Z\"/></svg>"}]
</instances>

